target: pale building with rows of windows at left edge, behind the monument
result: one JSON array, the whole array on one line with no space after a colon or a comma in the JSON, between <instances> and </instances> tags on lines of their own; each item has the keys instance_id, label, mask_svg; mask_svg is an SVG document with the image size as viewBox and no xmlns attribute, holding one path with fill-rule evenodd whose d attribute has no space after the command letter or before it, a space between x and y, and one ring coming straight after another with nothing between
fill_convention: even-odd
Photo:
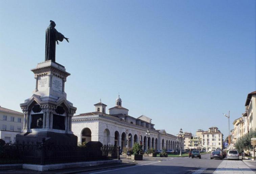
<instances>
[{"instance_id":1,"label":"pale building with rows of windows at left edge, behind the monument","mask_svg":"<svg viewBox=\"0 0 256 174\"><path fill-rule=\"evenodd\" d=\"M16 134L23 128L23 113L0 106L0 138L6 143L14 143Z\"/></svg>"}]
</instances>

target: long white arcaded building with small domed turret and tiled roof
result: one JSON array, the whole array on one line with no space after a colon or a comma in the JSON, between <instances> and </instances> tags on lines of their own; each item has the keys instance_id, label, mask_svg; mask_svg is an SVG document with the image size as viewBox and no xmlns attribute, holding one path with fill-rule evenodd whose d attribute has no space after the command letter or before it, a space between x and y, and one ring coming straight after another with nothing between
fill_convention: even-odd
<instances>
[{"instance_id":1,"label":"long white arcaded building with small domed turret and tiled roof","mask_svg":"<svg viewBox=\"0 0 256 174\"><path fill-rule=\"evenodd\" d=\"M134 143L143 145L143 149L156 150L184 148L184 140L168 134L165 130L156 130L152 119L141 115L138 118L128 114L129 110L122 106L120 97L116 99L115 106L106 113L106 104L101 101L95 106L94 112L82 113L72 118L72 131L78 137L78 142L100 141L105 145L132 148ZM146 134L147 130L150 134Z\"/></svg>"}]
</instances>

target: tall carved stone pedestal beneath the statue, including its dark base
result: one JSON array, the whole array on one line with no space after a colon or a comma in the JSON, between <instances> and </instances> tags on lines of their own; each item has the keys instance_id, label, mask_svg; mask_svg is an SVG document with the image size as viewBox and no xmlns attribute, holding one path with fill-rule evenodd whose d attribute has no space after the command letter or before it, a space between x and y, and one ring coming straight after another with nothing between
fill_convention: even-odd
<instances>
[{"instance_id":1,"label":"tall carved stone pedestal beneath the statue, including its dark base","mask_svg":"<svg viewBox=\"0 0 256 174\"><path fill-rule=\"evenodd\" d=\"M20 107L24 113L24 125L16 141L77 144L71 121L76 107L67 100L65 82L70 73L64 66L45 61L31 70L36 79L33 95Z\"/></svg>"}]
</instances>

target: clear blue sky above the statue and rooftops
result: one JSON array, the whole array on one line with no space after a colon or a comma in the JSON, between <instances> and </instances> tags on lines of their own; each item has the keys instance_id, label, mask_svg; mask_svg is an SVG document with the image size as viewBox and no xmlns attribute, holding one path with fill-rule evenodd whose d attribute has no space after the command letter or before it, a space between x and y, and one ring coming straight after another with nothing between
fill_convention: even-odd
<instances>
[{"instance_id":1,"label":"clear blue sky above the statue and rooftops","mask_svg":"<svg viewBox=\"0 0 256 174\"><path fill-rule=\"evenodd\" d=\"M70 38L56 62L76 114L115 105L176 135L216 126L245 111L255 91L255 1L0 1L0 105L21 111L30 69L44 61L49 21ZM108 109L107 108L107 109Z\"/></svg>"}]
</instances>

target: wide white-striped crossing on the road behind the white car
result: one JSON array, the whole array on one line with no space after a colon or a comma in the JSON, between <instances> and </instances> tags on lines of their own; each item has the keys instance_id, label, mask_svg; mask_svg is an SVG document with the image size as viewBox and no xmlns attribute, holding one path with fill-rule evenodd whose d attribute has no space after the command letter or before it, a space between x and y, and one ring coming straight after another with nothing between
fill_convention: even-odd
<instances>
[{"instance_id":1,"label":"wide white-striped crossing on the road behind the white car","mask_svg":"<svg viewBox=\"0 0 256 174\"><path fill-rule=\"evenodd\" d=\"M214 174L236 174L236 173L242 173L242 174L255 174L254 171L252 171L245 163L242 161L228 161L224 160L222 161L217 169L213 172Z\"/></svg>"}]
</instances>

